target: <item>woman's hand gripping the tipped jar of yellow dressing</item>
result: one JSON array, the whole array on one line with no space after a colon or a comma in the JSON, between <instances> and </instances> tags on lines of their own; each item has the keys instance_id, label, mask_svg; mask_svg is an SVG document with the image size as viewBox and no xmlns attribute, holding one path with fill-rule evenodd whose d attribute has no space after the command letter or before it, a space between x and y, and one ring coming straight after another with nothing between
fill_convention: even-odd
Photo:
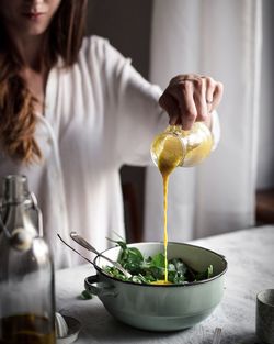
<instances>
[{"instance_id":1,"label":"woman's hand gripping the tipped jar of yellow dressing","mask_svg":"<svg viewBox=\"0 0 274 344\"><path fill-rule=\"evenodd\" d=\"M218 107L221 96L221 82L210 77L186 74L171 79L159 103L168 112L172 125L190 130L195 121L202 121L210 127L210 113Z\"/></svg>"}]
</instances>

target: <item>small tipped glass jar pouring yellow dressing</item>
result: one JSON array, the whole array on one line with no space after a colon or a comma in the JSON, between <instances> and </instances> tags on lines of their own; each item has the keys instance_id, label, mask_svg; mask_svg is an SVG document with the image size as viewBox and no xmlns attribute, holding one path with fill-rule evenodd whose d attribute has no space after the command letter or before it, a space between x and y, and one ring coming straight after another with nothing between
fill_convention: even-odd
<instances>
[{"instance_id":1,"label":"small tipped glass jar pouring yellow dressing","mask_svg":"<svg viewBox=\"0 0 274 344\"><path fill-rule=\"evenodd\" d=\"M210 154L212 147L212 132L203 122L195 122L189 131L180 125L169 125L155 137L150 152L161 170L197 165Z\"/></svg>"}]
</instances>

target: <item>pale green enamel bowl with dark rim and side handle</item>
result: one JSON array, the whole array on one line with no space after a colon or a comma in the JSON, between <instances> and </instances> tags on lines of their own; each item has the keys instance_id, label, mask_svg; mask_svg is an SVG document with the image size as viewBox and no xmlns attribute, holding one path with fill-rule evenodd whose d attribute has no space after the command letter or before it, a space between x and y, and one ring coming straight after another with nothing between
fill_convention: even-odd
<instances>
[{"instance_id":1,"label":"pale green enamel bowl with dark rim and side handle","mask_svg":"<svg viewBox=\"0 0 274 344\"><path fill-rule=\"evenodd\" d=\"M162 243L137 243L148 257L163 252ZM119 247L106 249L104 255L116 260ZM85 289L98 295L105 309L117 320L149 331L175 331L205 320L219 304L224 296L224 279L227 271L225 257L204 247L169 243L168 258L182 258L197 271L208 265L214 267L209 279L186 285L138 285L107 276L102 267L106 264L98 256L94 259L96 275L85 278Z\"/></svg>"}]
</instances>

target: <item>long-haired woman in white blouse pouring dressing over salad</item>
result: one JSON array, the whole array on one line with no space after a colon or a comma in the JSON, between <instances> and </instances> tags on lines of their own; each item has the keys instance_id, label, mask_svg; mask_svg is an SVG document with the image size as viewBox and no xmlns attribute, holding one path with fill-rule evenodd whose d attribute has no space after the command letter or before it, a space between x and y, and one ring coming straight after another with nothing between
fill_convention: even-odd
<instances>
[{"instance_id":1,"label":"long-haired woman in white blouse pouring dressing over salad","mask_svg":"<svg viewBox=\"0 0 274 344\"><path fill-rule=\"evenodd\" d=\"M196 75L173 78L162 93L107 41L83 38L85 7L0 0L0 175L27 176L57 268L78 259L57 232L79 231L99 249L123 235L121 166L149 164L168 122L212 127L222 93Z\"/></svg>"}]
</instances>

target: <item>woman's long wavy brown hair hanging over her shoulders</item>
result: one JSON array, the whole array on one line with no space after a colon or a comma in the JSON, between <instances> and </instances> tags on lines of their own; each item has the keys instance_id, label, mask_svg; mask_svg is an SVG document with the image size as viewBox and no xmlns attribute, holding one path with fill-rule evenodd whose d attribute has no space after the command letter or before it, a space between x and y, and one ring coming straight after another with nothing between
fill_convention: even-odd
<instances>
[{"instance_id":1,"label":"woman's long wavy brown hair hanging over her shoulders","mask_svg":"<svg viewBox=\"0 0 274 344\"><path fill-rule=\"evenodd\" d=\"M88 0L62 0L49 27L43 65L49 70L58 56L65 67L76 63L84 33ZM42 152L35 141L36 99L20 76L23 62L0 18L0 147L22 163L38 162Z\"/></svg>"}]
</instances>

